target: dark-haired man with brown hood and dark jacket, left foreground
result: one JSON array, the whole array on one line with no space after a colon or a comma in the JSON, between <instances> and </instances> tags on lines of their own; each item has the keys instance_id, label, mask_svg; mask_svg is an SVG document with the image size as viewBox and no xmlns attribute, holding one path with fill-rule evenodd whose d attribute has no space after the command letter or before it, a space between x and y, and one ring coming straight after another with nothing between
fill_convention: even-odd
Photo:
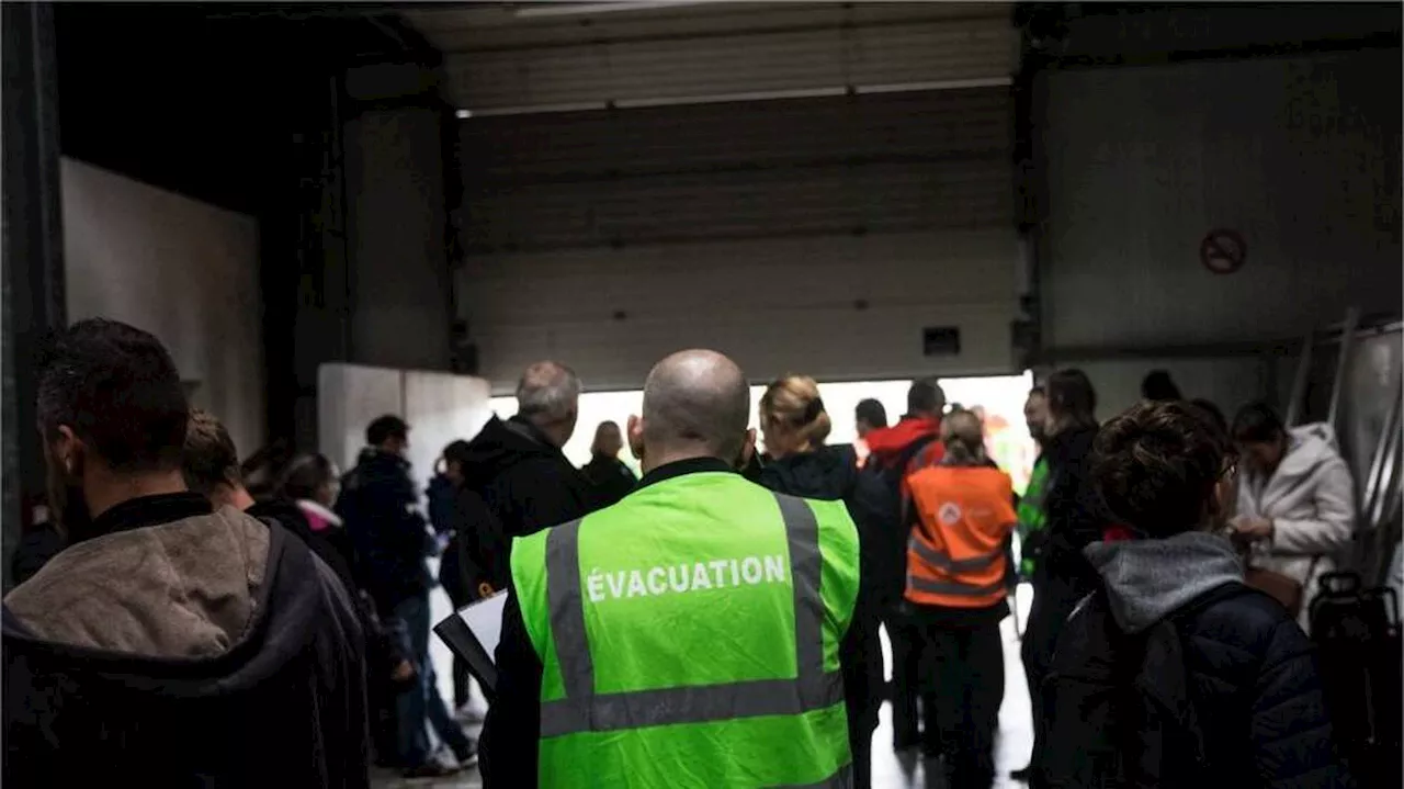
<instances>
[{"instance_id":1,"label":"dark-haired man with brown hood and dark jacket, left foreground","mask_svg":"<svg viewBox=\"0 0 1404 789\"><path fill-rule=\"evenodd\" d=\"M286 529L187 490L170 354L84 320L45 355L70 545L4 598L4 785L368 786L351 601Z\"/></svg>"}]
</instances>

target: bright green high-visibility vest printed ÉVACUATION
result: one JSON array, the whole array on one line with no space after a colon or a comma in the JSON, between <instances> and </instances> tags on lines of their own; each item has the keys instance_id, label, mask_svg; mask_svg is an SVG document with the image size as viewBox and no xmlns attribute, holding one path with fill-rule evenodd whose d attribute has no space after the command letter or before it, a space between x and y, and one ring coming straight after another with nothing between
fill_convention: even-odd
<instances>
[{"instance_id":1,"label":"bright green high-visibility vest printed \u00c9VACUATION","mask_svg":"<svg viewBox=\"0 0 1404 789\"><path fill-rule=\"evenodd\" d=\"M841 501L677 476L512 543L541 786L849 786Z\"/></svg>"}]
</instances>

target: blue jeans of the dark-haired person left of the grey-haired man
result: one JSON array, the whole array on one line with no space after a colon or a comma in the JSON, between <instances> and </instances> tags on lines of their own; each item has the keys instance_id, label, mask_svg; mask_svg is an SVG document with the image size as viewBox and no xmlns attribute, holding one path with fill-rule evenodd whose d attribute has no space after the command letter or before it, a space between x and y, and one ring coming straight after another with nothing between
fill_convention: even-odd
<instances>
[{"instance_id":1,"label":"blue jeans of the dark-haired person left of the grey-haired man","mask_svg":"<svg viewBox=\"0 0 1404 789\"><path fill-rule=\"evenodd\" d=\"M430 741L428 726L434 726L438 734L459 761L468 760L473 754L473 743L463 734L463 729L453 720L453 716L444 705L444 696L438 692L434 675L434 664L430 661L430 598L428 592L421 592L402 601L395 606L409 630L410 649L414 654L414 668L417 681L410 689L400 694L396 703L400 731L400 760L404 767L413 768L428 761Z\"/></svg>"}]
</instances>

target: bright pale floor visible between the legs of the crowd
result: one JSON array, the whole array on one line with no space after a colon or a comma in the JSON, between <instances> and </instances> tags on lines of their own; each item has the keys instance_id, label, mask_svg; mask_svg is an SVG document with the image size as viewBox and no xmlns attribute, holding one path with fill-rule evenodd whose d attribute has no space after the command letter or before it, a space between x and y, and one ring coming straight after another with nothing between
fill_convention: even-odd
<instances>
[{"instance_id":1,"label":"bright pale floor visible between the legs of the crowd","mask_svg":"<svg viewBox=\"0 0 1404 789\"><path fill-rule=\"evenodd\" d=\"M1029 605L1029 588L1021 587L1021 594L1018 599L1019 622L1025 622L1028 618ZM432 601L434 622L438 622L444 616L448 616L448 598L442 592L435 592ZM1004 706L1000 708L1000 737L995 743L995 768L998 771L998 778L995 781L997 789L1007 789L1022 786L1009 781L1008 775L1011 769L1024 767L1029 761L1029 750L1033 747L1033 726L1029 717L1029 691L1028 684L1024 679L1024 664L1019 661L1019 642L1015 636L1015 619L1009 618L1004 621ZM448 649L434 640L434 665L439 678L439 691L444 694L445 699L452 698L452 685L449 684L449 665L451 657ZM887 657L887 642L883 640L883 653L886 663L890 665L890 657ZM390 789L402 786L413 786L416 789L434 788L434 789L466 789L482 786L483 782L477 776L477 771L465 772L451 781L404 781L395 775L379 774L373 779L373 786L378 789ZM942 782L935 781L934 776L928 776L924 769L922 760L915 754L896 754L892 750L892 706L883 705L882 720L878 726L878 733L873 736L873 789L908 789L908 788L939 788Z\"/></svg>"}]
</instances>

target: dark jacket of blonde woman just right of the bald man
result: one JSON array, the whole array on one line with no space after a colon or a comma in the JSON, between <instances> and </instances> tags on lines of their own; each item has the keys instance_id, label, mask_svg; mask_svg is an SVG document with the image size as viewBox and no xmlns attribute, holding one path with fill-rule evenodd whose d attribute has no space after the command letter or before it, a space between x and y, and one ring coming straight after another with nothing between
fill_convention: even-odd
<instances>
[{"instance_id":1,"label":"dark jacket of blonde woman just right of the bald man","mask_svg":"<svg viewBox=\"0 0 1404 789\"><path fill-rule=\"evenodd\" d=\"M896 528L887 490L872 475L858 470L852 446L824 446L817 452L789 455L772 460L761 470L760 484L776 493L802 498L842 501L858 526L859 571L858 601L852 625L840 644L844 665L844 701L848 706L848 726L855 734L872 736L882 705L882 644L878 625L880 590L875 545L883 533Z\"/></svg>"}]
</instances>

